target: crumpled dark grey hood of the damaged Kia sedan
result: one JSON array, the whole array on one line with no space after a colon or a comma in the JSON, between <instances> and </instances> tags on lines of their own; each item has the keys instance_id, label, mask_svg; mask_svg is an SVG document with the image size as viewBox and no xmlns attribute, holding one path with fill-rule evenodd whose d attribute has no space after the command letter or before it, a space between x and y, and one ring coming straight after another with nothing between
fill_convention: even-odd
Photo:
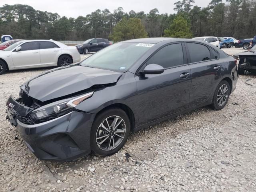
<instances>
[{"instance_id":1,"label":"crumpled dark grey hood of the damaged Kia sedan","mask_svg":"<svg viewBox=\"0 0 256 192\"><path fill-rule=\"evenodd\" d=\"M71 65L49 70L20 88L41 102L86 90L94 85L115 83L121 72Z\"/></svg>"}]
</instances>

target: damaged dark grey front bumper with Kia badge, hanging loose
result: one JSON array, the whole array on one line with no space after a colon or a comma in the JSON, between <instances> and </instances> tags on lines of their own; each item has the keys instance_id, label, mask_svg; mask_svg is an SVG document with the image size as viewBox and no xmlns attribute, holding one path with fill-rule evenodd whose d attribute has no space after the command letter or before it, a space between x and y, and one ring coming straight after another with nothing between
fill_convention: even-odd
<instances>
[{"instance_id":1,"label":"damaged dark grey front bumper with Kia badge, hanging loose","mask_svg":"<svg viewBox=\"0 0 256 192\"><path fill-rule=\"evenodd\" d=\"M28 148L41 160L69 161L89 154L90 131L95 115L69 112L58 118L34 124L33 109L10 96L6 102L7 119L15 126Z\"/></svg>"}]
</instances>

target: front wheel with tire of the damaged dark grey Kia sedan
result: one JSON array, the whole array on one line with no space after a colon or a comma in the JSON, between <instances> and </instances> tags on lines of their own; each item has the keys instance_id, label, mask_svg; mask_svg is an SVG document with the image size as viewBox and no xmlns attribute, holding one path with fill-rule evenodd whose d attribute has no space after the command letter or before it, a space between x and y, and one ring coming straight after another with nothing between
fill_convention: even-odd
<instances>
[{"instance_id":1,"label":"front wheel with tire of the damaged dark grey Kia sedan","mask_svg":"<svg viewBox=\"0 0 256 192\"><path fill-rule=\"evenodd\" d=\"M130 121L119 108L111 108L96 116L90 134L92 152L98 156L115 154L130 135Z\"/></svg>"}]
</instances>

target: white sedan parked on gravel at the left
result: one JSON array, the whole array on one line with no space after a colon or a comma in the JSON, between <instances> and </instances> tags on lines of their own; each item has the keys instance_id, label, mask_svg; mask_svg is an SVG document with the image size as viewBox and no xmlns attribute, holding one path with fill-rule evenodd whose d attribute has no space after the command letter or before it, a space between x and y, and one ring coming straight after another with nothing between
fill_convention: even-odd
<instances>
[{"instance_id":1,"label":"white sedan parked on gravel at the left","mask_svg":"<svg viewBox=\"0 0 256 192\"><path fill-rule=\"evenodd\" d=\"M79 61L75 46L53 40L23 40L0 51L0 75L6 70L66 66Z\"/></svg>"}]
</instances>

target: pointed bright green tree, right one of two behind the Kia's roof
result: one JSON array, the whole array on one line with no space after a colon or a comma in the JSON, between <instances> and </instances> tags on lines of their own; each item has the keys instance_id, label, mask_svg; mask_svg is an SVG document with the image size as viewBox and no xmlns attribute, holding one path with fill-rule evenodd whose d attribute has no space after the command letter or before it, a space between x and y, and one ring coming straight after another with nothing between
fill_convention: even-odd
<instances>
[{"instance_id":1,"label":"pointed bright green tree, right one of two behind the Kia's roof","mask_svg":"<svg viewBox=\"0 0 256 192\"><path fill-rule=\"evenodd\" d=\"M192 33L186 19L181 15L177 15L170 24L169 28L164 30L165 37L191 38Z\"/></svg>"}]
</instances>

